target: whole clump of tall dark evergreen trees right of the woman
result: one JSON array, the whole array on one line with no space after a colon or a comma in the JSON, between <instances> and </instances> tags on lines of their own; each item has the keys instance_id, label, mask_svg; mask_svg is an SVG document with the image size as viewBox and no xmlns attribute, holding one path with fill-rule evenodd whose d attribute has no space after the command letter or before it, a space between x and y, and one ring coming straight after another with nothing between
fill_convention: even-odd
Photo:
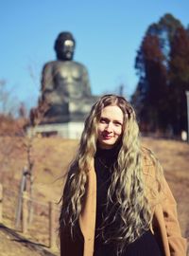
<instances>
[{"instance_id":1,"label":"whole clump of tall dark evergreen trees right of the woman","mask_svg":"<svg viewBox=\"0 0 189 256\"><path fill-rule=\"evenodd\" d=\"M188 44L188 31L171 14L147 28L136 56L139 82L131 99L143 131L170 136L187 129Z\"/></svg>"}]
</instances>

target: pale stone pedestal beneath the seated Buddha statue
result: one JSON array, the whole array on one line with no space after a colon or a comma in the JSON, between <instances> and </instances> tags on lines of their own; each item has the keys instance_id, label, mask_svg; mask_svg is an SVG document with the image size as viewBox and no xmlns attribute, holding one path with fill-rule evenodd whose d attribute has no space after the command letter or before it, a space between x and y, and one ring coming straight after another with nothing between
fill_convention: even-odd
<instances>
[{"instance_id":1,"label":"pale stone pedestal beneath the seated Buddha statue","mask_svg":"<svg viewBox=\"0 0 189 256\"><path fill-rule=\"evenodd\" d=\"M27 128L27 136L42 135L43 137L65 137L79 139L84 128L84 122L69 121L66 123L40 124Z\"/></svg>"}]
</instances>

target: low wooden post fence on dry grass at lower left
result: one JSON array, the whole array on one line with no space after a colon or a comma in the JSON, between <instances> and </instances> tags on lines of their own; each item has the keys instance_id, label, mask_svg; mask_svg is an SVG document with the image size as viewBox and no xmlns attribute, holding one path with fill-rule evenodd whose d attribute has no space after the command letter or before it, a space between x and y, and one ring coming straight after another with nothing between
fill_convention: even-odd
<instances>
[{"instance_id":1,"label":"low wooden post fence on dry grass at lower left","mask_svg":"<svg viewBox=\"0 0 189 256\"><path fill-rule=\"evenodd\" d=\"M15 197L14 199L12 195ZM10 226L10 228L15 228L12 226L15 226L16 197L17 195L15 192L6 189L4 190L3 185L0 183L0 223L5 223L6 225ZM31 221L29 221L29 204L32 204L32 208L34 208L32 211L34 217L32 217ZM14 209L14 211L12 211L10 206L12 209ZM39 210L39 207L41 210ZM11 212L11 216L9 215L9 211ZM38 242L46 244L47 240L47 247L52 249L58 247L57 229L59 211L59 208L54 202L42 202L33 198L31 199L29 198L27 192L23 192L21 218L22 229L20 231L26 235L31 234L32 238L34 236L36 237L37 233L45 233L47 239L43 237L41 238L41 241L38 239ZM38 229L31 229L32 226L35 226L35 221L37 223L36 227L38 227Z\"/></svg>"}]
</instances>

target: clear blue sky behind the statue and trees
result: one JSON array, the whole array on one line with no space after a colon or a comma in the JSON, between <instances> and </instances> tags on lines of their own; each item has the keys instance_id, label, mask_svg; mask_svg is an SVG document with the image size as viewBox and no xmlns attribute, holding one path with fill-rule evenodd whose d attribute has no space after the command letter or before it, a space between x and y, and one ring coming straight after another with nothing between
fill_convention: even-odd
<instances>
[{"instance_id":1,"label":"clear blue sky behind the statue and trees","mask_svg":"<svg viewBox=\"0 0 189 256\"><path fill-rule=\"evenodd\" d=\"M61 31L75 36L74 60L87 66L94 95L123 83L130 96L146 28L167 12L189 24L188 0L1 0L0 9L0 79L27 107L39 97L43 64L56 60Z\"/></svg>"}]
</instances>

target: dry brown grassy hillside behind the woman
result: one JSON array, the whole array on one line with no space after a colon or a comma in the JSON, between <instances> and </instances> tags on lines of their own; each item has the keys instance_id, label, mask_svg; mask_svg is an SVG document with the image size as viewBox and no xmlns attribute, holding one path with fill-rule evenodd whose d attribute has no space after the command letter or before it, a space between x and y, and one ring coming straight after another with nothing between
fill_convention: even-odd
<instances>
[{"instance_id":1,"label":"dry brown grassy hillside behind the woman","mask_svg":"<svg viewBox=\"0 0 189 256\"><path fill-rule=\"evenodd\" d=\"M0 138L0 180L4 186L4 224L15 229L15 209L23 167L26 166L26 146L22 137ZM143 137L143 144L160 159L167 181L178 201L180 227L189 237L189 145L180 141ZM77 149L77 140L58 137L36 138L32 143L33 167L33 220L26 238L48 247L48 201L58 203L63 187L63 174ZM42 204L41 204L42 203ZM58 224L59 205L56 206ZM58 226L57 226L58 228ZM1 233L1 229L0 229ZM2 234L1 234L2 235ZM8 254L20 250L18 243L0 243L0 251ZM21 245L21 244L19 244ZM59 246L59 245L58 245ZM59 255L59 248L52 250ZM28 254L27 254L28 253ZM25 255L43 255L27 252ZM39 253L39 254L38 254ZM21 255L21 254L19 254ZM24 255L24 254L23 254Z\"/></svg>"}]
</instances>

